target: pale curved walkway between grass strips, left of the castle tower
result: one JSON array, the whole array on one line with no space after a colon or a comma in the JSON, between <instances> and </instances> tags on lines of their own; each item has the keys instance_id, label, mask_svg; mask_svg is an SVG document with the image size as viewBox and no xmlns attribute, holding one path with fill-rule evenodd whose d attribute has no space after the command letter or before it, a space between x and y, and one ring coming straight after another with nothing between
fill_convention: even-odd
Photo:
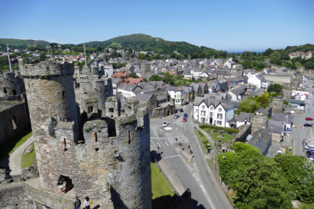
<instances>
[{"instance_id":1,"label":"pale curved walkway between grass strips, left of the castle tower","mask_svg":"<svg viewBox=\"0 0 314 209\"><path fill-rule=\"evenodd\" d=\"M19 175L22 172L22 155L24 150L33 143L33 137L29 137L21 146L19 146L13 153L8 157L10 176Z\"/></svg>"}]
</instances>

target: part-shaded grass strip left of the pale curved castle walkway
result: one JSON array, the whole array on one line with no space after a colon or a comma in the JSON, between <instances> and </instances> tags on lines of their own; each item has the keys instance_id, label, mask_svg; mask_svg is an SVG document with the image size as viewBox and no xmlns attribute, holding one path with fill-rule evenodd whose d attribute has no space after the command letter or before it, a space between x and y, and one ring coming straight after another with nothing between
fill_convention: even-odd
<instances>
[{"instance_id":1,"label":"part-shaded grass strip left of the pale curved castle walkway","mask_svg":"<svg viewBox=\"0 0 314 209\"><path fill-rule=\"evenodd\" d=\"M19 146L21 146L29 137L33 135L32 132L29 132L29 130L21 132L16 137L13 137L12 139L9 139L5 143L1 144L0 146L0 160L7 157L11 153L13 153L14 150L16 150Z\"/></svg>"}]
</instances>

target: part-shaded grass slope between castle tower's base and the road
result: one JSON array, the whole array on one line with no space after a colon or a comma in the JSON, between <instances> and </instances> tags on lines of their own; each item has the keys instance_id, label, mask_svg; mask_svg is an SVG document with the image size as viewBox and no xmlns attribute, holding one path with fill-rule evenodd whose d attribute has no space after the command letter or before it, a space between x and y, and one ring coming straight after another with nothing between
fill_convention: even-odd
<instances>
[{"instance_id":1,"label":"part-shaded grass slope between castle tower's base and the road","mask_svg":"<svg viewBox=\"0 0 314 209\"><path fill-rule=\"evenodd\" d=\"M151 193L153 209L170 208L177 196L172 192L167 180L160 173L157 165L151 162Z\"/></svg>"}]
</instances>

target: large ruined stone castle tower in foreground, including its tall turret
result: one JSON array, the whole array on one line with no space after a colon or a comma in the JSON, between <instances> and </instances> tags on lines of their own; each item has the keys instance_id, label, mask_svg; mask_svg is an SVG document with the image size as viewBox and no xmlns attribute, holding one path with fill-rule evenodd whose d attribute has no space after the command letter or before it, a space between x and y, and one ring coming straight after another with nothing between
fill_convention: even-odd
<instances>
[{"instance_id":1,"label":"large ruined stone castle tower in foreground, including its tall turret","mask_svg":"<svg viewBox=\"0 0 314 209\"><path fill-rule=\"evenodd\" d=\"M118 98L109 97L100 104L102 120L87 121L79 131L74 65L19 62L41 187L90 196L100 208L151 208L146 104L127 98L123 108ZM84 141L79 141L79 132Z\"/></svg>"}]
</instances>

